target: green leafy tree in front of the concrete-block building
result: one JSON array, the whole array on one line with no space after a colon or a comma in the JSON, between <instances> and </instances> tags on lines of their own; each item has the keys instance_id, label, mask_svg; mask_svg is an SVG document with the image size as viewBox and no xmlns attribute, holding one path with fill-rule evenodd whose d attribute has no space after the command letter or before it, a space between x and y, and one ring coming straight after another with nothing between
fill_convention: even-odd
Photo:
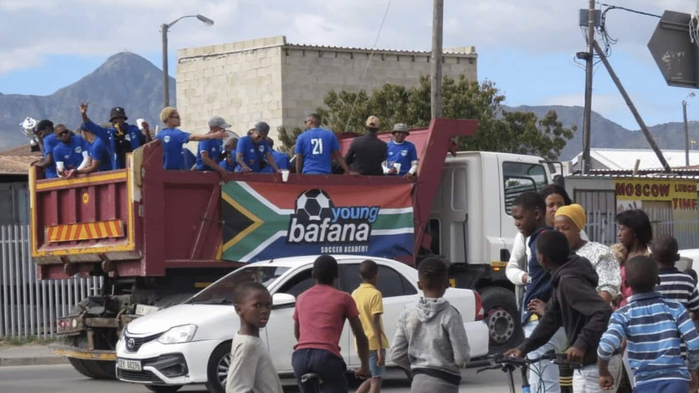
<instances>
[{"instance_id":1,"label":"green leafy tree in front of the concrete-block building","mask_svg":"<svg viewBox=\"0 0 699 393\"><path fill-rule=\"evenodd\" d=\"M502 109L505 96L495 83L478 83L445 77L442 81L442 113L444 117L478 120L478 129L468 138L459 138L461 150L483 150L540 155L557 159L575 134L576 127L565 128L554 110L539 119L531 112L507 112ZM324 123L336 132L363 134L364 120L378 116L382 129L403 122L408 127L427 127L430 122L430 80L422 76L417 87L387 83L371 95L359 92L326 94L324 106L317 112ZM300 130L298 130L300 131ZM287 147L296 140L296 130L282 141ZM287 141L284 141L287 138Z\"/></svg>"}]
</instances>

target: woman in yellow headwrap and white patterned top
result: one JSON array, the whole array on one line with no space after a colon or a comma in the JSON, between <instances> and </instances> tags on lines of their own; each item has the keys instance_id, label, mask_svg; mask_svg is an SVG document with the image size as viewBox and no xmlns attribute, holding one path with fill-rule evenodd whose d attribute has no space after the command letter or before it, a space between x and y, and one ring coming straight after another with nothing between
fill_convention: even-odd
<instances>
[{"instance_id":1,"label":"woman in yellow headwrap and white patterned top","mask_svg":"<svg viewBox=\"0 0 699 393\"><path fill-rule=\"evenodd\" d=\"M619 287L621 287L619 262L614 257L612 250L606 245L586 241L580 237L580 232L586 223L585 210L577 203L561 206L556 210L554 228L568 239L570 250L590 261L597 276L599 276L597 293L605 301L611 303L614 298L619 296Z\"/></svg>"}]
</instances>

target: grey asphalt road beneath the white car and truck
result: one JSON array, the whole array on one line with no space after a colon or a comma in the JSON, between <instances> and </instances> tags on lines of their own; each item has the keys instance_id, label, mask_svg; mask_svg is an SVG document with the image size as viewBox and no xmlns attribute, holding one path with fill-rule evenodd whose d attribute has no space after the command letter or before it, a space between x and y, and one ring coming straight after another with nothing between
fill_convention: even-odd
<instances>
[{"instance_id":1,"label":"grey asphalt road beneath the white car and truck","mask_svg":"<svg viewBox=\"0 0 699 393\"><path fill-rule=\"evenodd\" d=\"M294 380L282 380L284 392L298 392ZM519 385L519 378L515 377ZM356 386L352 387L352 391ZM518 388L519 389L519 388ZM507 378L500 371L476 374L463 372L459 392L508 393ZM146 393L142 385L117 381L99 381L85 378L67 364L57 366L0 367L0 392L2 393ZM180 392L205 393L203 385L182 388ZM401 371L391 370L382 392L410 392L410 384Z\"/></svg>"}]
</instances>

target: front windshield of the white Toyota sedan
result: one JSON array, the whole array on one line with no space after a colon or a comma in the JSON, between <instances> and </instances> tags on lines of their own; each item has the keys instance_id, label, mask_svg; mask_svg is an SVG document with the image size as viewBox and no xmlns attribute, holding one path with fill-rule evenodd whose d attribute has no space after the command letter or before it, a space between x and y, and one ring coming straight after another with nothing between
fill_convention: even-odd
<instances>
[{"instance_id":1,"label":"front windshield of the white Toyota sedan","mask_svg":"<svg viewBox=\"0 0 699 393\"><path fill-rule=\"evenodd\" d=\"M209 285L206 290L194 295L189 304L233 304L233 290L243 281L257 281L268 287L279 276L289 270L281 266L248 266L240 268L221 280Z\"/></svg>"}]
</instances>

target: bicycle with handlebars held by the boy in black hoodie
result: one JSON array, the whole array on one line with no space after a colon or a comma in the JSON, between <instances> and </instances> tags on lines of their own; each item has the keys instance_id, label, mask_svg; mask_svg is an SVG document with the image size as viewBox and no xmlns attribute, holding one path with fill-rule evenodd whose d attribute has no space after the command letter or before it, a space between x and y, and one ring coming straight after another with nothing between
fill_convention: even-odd
<instances>
[{"instance_id":1,"label":"bicycle with handlebars held by the boy in black hoodie","mask_svg":"<svg viewBox=\"0 0 699 393\"><path fill-rule=\"evenodd\" d=\"M531 387L529 386L528 378L526 376L527 369L531 369L531 372L538 374L540 374L541 372L536 370L535 367L530 368L529 366L537 364L542 360L551 360L554 364L565 364L567 366L570 366L572 369L579 369L582 367L582 364L580 363L568 362L566 360L566 357L567 355L565 355L565 353L556 352L547 352L541 357L535 359L527 359L526 357L505 357L502 354L491 355L488 357L490 365L485 366L482 369L478 369L476 373L480 373L486 370L501 370L504 373L507 373L507 382L510 385L510 393L516 393L516 391L514 390L514 376L512 375L512 373L514 373L515 369L519 368L519 370L521 371L522 378L522 393L530 393ZM543 387L543 384L540 384L536 390L537 393L545 393L545 391L546 390Z\"/></svg>"}]
</instances>

